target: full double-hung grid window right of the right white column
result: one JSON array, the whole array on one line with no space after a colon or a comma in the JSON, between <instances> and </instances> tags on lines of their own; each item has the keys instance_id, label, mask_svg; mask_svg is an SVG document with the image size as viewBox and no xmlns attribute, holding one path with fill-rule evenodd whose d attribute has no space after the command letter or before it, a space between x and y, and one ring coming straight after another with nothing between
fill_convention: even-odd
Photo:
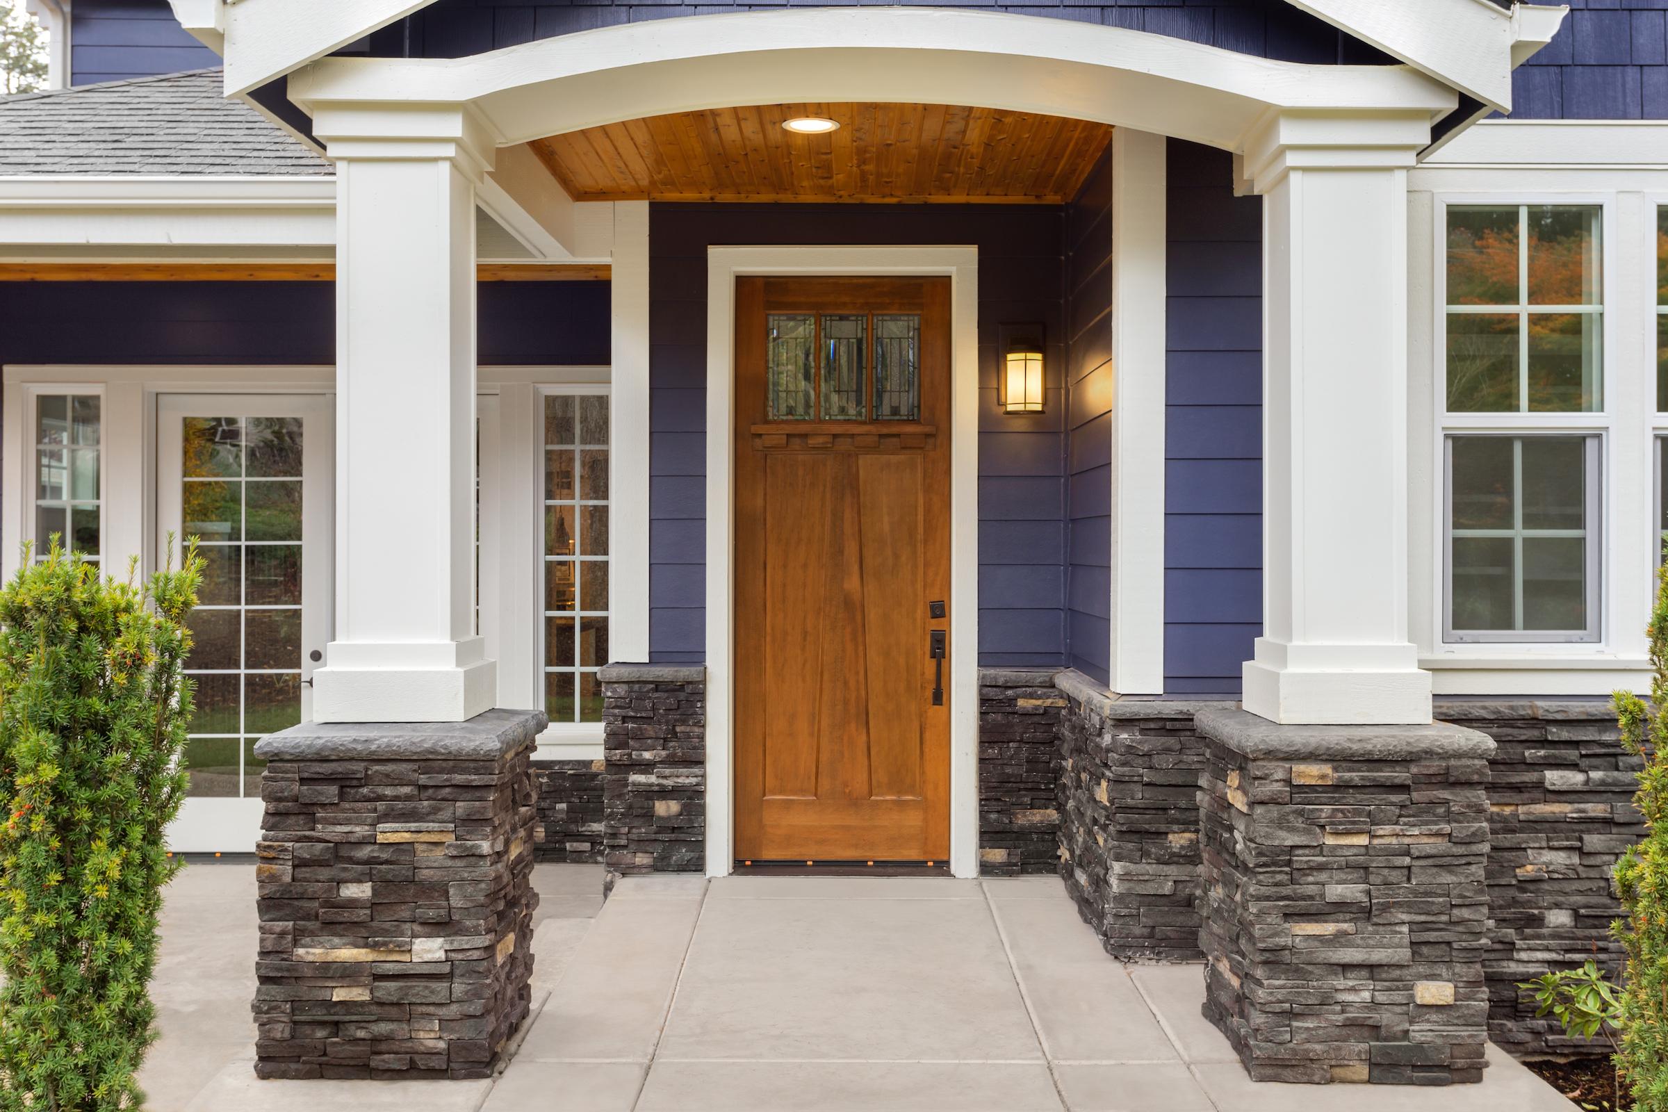
<instances>
[{"instance_id":1,"label":"full double-hung grid window right of the right white column","mask_svg":"<svg viewBox=\"0 0 1668 1112\"><path fill-rule=\"evenodd\" d=\"M1598 205L1453 205L1444 640L1596 642Z\"/></svg>"}]
</instances>

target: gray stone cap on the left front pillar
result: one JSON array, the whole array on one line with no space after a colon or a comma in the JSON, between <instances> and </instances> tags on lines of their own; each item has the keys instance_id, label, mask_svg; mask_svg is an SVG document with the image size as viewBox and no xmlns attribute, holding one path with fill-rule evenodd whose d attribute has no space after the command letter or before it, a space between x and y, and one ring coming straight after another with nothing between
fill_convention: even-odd
<instances>
[{"instance_id":1,"label":"gray stone cap on the left front pillar","mask_svg":"<svg viewBox=\"0 0 1668 1112\"><path fill-rule=\"evenodd\" d=\"M542 710L487 710L469 722L304 722L255 744L262 760L497 760L532 745Z\"/></svg>"}]
</instances>

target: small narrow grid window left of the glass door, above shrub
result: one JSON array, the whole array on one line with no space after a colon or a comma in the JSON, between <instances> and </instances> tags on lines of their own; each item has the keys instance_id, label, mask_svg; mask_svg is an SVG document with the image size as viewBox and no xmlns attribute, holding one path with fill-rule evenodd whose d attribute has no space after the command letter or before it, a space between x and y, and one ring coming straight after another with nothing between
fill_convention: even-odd
<instances>
[{"instance_id":1,"label":"small narrow grid window left of the glass door, above shrub","mask_svg":"<svg viewBox=\"0 0 1668 1112\"><path fill-rule=\"evenodd\" d=\"M100 408L97 393L35 397L35 559L52 538L92 562L100 553Z\"/></svg>"}]
</instances>

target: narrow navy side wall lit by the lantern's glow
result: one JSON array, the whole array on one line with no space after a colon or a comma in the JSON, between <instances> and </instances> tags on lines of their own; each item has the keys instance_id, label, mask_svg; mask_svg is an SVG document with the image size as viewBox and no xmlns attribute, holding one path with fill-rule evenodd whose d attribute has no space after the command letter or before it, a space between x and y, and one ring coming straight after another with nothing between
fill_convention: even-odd
<instances>
[{"instance_id":1,"label":"narrow navy side wall lit by the lantern's glow","mask_svg":"<svg viewBox=\"0 0 1668 1112\"><path fill-rule=\"evenodd\" d=\"M1113 543L1113 153L1066 207L1066 662L1108 682Z\"/></svg>"}]
</instances>

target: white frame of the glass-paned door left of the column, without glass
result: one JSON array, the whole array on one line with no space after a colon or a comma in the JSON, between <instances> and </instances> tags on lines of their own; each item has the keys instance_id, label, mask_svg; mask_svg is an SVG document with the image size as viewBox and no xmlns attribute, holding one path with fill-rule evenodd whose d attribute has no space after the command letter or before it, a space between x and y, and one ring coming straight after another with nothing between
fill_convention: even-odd
<instances>
[{"instance_id":1,"label":"white frame of the glass-paned door left of the column, without glass","mask_svg":"<svg viewBox=\"0 0 1668 1112\"><path fill-rule=\"evenodd\" d=\"M335 520L335 405L325 393L247 393L247 392L192 392L158 393L155 398L155 477L157 477L157 528L153 537L155 565L163 567L170 557L168 533L180 535L180 470L182 438L177 422L183 417L302 417L307 432L302 440L302 710L300 720L310 722L312 679L315 662L312 650L324 652L332 629L330 602L334 599L332 523ZM173 553L175 564L178 552ZM244 777L239 777L244 784ZM264 804L259 794L242 797L192 797L187 795L178 819L167 830L168 849L173 852L250 852L260 840Z\"/></svg>"}]
</instances>

